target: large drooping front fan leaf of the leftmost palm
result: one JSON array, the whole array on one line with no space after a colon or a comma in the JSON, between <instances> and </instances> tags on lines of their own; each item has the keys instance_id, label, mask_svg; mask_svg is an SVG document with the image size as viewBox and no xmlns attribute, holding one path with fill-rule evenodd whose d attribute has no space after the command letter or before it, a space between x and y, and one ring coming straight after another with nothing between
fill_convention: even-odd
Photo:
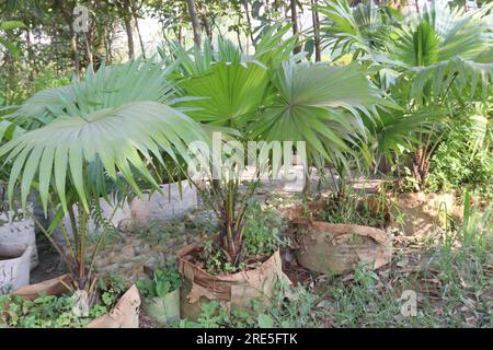
<instances>
[{"instance_id":1,"label":"large drooping front fan leaf of the leftmost palm","mask_svg":"<svg viewBox=\"0 0 493 350\"><path fill-rule=\"evenodd\" d=\"M0 156L12 162L8 189L11 201L19 184L24 208L28 191L35 187L45 212L50 190L58 195L65 212L68 202L74 200L70 196L89 212L90 200L106 195L94 185L94 177L107 174L116 180L122 174L140 194L135 177L158 185L148 167L151 158L164 164L165 153L186 161L187 144L196 140L207 138L184 114L157 102L134 102L84 116L59 116L5 143Z\"/></svg>"}]
</instances>

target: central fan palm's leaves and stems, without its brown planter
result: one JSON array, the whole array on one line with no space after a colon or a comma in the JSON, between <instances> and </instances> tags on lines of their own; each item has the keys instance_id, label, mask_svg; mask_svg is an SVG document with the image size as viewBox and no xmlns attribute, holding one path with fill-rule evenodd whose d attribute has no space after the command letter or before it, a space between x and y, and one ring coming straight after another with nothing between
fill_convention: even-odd
<instances>
[{"instance_id":1,"label":"central fan palm's leaves and stems, without its brown planter","mask_svg":"<svg viewBox=\"0 0 493 350\"><path fill-rule=\"evenodd\" d=\"M324 160L348 166L354 149L366 137L362 114L371 116L377 104L393 105L382 98L356 65L301 63L296 61L299 56L277 67L270 65L284 57L287 47L280 36L268 46L263 44L270 39L260 40L257 49L262 50L253 57L240 56L239 62L218 60L204 72L182 75L183 93L203 97L188 100L182 106L197 120L233 127L240 132L239 141L265 141L261 154L273 141L301 141L306 142L309 162ZM278 162L271 158L266 171L278 172ZM246 201L264 165L256 164L256 177L242 194L241 171L213 182L211 205L221 225L217 248L236 267L245 258Z\"/></svg>"}]
</instances>

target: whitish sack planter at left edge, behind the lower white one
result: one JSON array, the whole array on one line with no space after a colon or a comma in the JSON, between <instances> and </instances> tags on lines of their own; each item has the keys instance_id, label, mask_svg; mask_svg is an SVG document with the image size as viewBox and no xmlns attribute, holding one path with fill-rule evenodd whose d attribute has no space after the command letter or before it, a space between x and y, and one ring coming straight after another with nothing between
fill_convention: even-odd
<instances>
[{"instance_id":1,"label":"whitish sack planter at left edge, behind the lower white one","mask_svg":"<svg viewBox=\"0 0 493 350\"><path fill-rule=\"evenodd\" d=\"M31 270L39 265L35 224L32 219L12 219L10 212L0 213L0 246L5 256L19 254L25 246L28 246L31 247Z\"/></svg>"}]
</instances>

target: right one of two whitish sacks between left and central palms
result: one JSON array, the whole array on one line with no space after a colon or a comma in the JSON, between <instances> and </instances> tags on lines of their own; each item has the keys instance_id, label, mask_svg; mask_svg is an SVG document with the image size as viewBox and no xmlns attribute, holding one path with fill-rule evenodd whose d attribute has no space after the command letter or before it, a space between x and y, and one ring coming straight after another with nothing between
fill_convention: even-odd
<instances>
[{"instance_id":1,"label":"right one of two whitish sacks between left and central palms","mask_svg":"<svg viewBox=\"0 0 493 350\"><path fill-rule=\"evenodd\" d=\"M188 180L160 185L160 188L162 194L144 195L141 199L134 198L130 202L134 224L180 219L197 208L197 189Z\"/></svg>"}]
</instances>

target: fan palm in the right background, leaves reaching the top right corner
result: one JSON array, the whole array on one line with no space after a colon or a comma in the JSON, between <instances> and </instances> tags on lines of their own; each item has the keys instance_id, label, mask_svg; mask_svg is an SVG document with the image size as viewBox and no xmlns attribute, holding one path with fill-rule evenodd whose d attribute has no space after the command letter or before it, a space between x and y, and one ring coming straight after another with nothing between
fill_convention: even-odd
<instances>
[{"instance_id":1,"label":"fan palm in the right background, leaves reaching the top right corner","mask_svg":"<svg viewBox=\"0 0 493 350\"><path fill-rule=\"evenodd\" d=\"M336 37L329 37L332 49L364 52L360 60L369 68L375 83L404 107L402 116L381 115L380 126L372 128L380 132L376 135L375 149L397 150L395 145L405 138L405 143L416 148L413 174L422 187L433 150L445 130L440 119L447 115L456 117L465 104L485 101L491 94L493 40L486 15L490 9L465 13L460 9L436 11L433 4L422 14L408 14L399 23L371 5L351 9L342 0L325 7L331 20L325 33L333 32ZM357 15L357 11L366 16ZM374 30L367 31L368 27ZM429 113L433 110L435 114ZM389 133L389 129L393 132ZM398 130L400 135L395 133Z\"/></svg>"}]
</instances>

